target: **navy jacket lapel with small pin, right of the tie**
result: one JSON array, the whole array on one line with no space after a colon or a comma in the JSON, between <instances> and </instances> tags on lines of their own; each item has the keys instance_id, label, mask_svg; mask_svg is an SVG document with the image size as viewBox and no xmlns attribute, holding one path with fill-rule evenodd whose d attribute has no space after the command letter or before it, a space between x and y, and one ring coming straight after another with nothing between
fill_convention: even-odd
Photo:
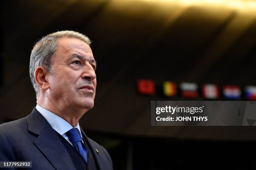
<instances>
[{"instance_id":1,"label":"navy jacket lapel with small pin, right of the tie","mask_svg":"<svg viewBox=\"0 0 256 170\"><path fill-rule=\"evenodd\" d=\"M80 130L81 130L81 133L82 133L83 137L86 140L86 143L87 143L88 147L90 147L90 150L92 152L93 158L95 159L95 163L96 163L98 169L99 170L109 170L108 167L109 167L110 163L107 162L106 158L103 156L103 154L105 154L105 153L98 154L97 151L95 150L95 148L97 150L100 150L101 148L99 148L97 145L95 145L93 143L93 141L85 135L85 133L84 133L84 131L82 130L81 127L80 127Z\"/></svg>"}]
</instances>

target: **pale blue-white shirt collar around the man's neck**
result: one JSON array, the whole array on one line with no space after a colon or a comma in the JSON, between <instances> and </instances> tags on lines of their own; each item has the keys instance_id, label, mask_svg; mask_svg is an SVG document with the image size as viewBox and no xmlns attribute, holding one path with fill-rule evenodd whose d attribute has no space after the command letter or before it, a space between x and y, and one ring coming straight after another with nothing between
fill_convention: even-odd
<instances>
[{"instance_id":1,"label":"pale blue-white shirt collar around the man's neck","mask_svg":"<svg viewBox=\"0 0 256 170\"><path fill-rule=\"evenodd\" d=\"M36 110L38 110L38 112L40 112L41 115L44 116L47 122L49 122L51 127L62 136L66 136L65 133L73 128L73 126L70 125L69 122L55 115L53 112L46 110L44 107L41 107L40 105L36 105ZM79 127L79 123L77 123L77 125L74 128L77 128L79 130L80 136L82 138L82 133Z\"/></svg>"}]
</instances>

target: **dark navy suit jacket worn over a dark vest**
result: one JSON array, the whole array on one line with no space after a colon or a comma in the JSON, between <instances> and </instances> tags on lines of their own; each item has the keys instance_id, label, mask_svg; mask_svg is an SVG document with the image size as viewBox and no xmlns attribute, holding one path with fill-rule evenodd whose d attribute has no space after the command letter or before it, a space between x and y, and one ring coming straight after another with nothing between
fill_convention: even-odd
<instances>
[{"instance_id":1,"label":"dark navy suit jacket worn over a dark vest","mask_svg":"<svg viewBox=\"0 0 256 170\"><path fill-rule=\"evenodd\" d=\"M112 170L112 160L105 148L88 138L82 128L81 133L97 169ZM0 161L32 161L29 169L33 170L75 169L56 131L36 108L27 117L0 125Z\"/></svg>"}]
</instances>

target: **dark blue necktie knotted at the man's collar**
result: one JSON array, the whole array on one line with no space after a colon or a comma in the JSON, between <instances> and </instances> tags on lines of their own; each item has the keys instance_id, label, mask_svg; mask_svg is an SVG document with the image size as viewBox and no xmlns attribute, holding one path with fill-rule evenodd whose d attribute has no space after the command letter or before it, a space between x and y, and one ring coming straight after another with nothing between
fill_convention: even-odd
<instances>
[{"instance_id":1,"label":"dark blue necktie knotted at the man's collar","mask_svg":"<svg viewBox=\"0 0 256 170\"><path fill-rule=\"evenodd\" d=\"M82 142L79 130L77 128L72 128L67 131L66 135L73 144L74 148L76 148L76 150L82 155L85 162L87 163L87 148Z\"/></svg>"}]
</instances>

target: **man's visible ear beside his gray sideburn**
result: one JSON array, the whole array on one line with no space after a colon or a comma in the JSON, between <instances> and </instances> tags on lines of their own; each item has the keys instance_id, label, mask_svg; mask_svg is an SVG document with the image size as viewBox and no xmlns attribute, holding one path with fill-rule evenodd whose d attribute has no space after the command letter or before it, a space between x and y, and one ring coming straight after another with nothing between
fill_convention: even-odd
<instances>
[{"instance_id":1,"label":"man's visible ear beside his gray sideburn","mask_svg":"<svg viewBox=\"0 0 256 170\"><path fill-rule=\"evenodd\" d=\"M34 72L34 77L36 84L41 87L43 90L47 90L50 88L48 82L48 76L50 75L49 71L47 71L44 67L37 67Z\"/></svg>"}]
</instances>

